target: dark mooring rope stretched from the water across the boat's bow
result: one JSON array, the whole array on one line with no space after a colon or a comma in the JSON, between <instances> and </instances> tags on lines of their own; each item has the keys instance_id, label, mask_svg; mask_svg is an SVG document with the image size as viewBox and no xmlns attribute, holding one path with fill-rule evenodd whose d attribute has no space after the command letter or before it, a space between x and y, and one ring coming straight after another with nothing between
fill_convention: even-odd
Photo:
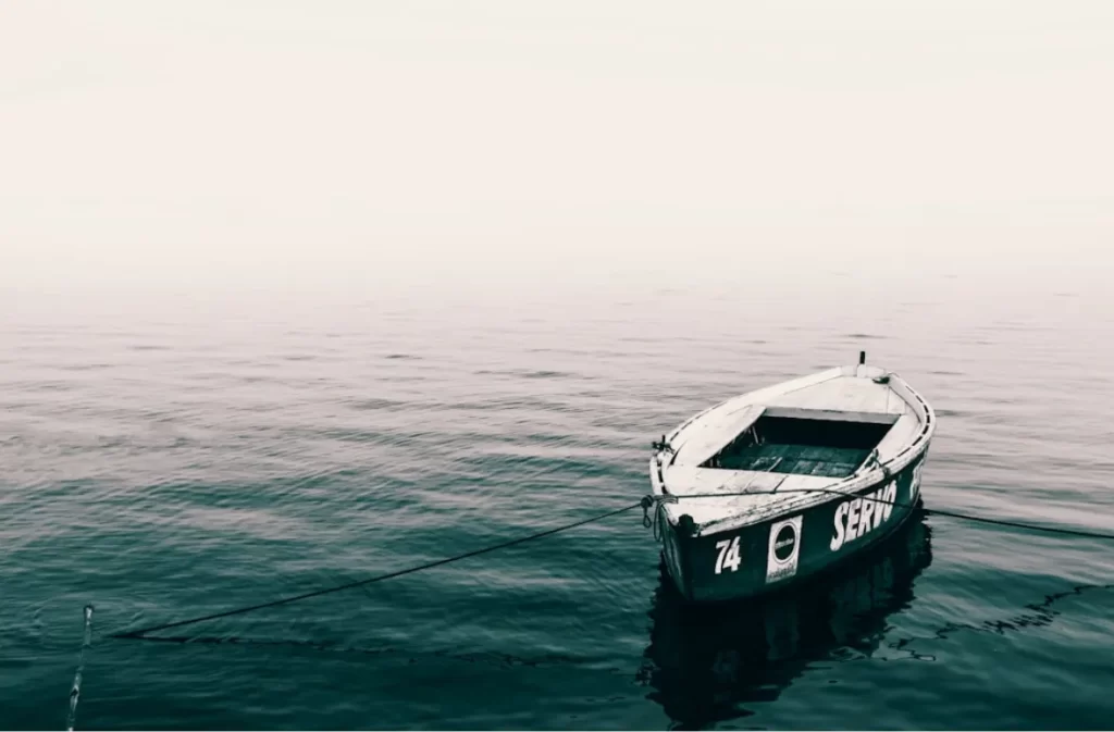
<instances>
[{"instance_id":1,"label":"dark mooring rope stretched from the water across the boat's bow","mask_svg":"<svg viewBox=\"0 0 1114 732\"><path fill-rule=\"evenodd\" d=\"M587 524L595 524L595 523L598 523L598 521L603 521L603 520L612 518L614 516L618 516L619 514L625 514L627 511L632 511L632 510L634 510L636 508L642 508L643 509L643 525L646 526L647 528L651 527L651 526L653 526L654 530L655 530L655 538L656 538L658 536L658 529L659 529L658 521L663 520L662 513L664 511L664 504L666 504L666 502L674 502L674 501L677 501L678 499L690 499L690 498L724 498L724 497L731 497L731 496L754 496L754 495L763 495L763 494L769 495L769 494L774 494L774 492L782 492L782 494L789 494L789 492L827 492L827 494L837 494L837 495L840 495L840 496L844 496L847 498L858 498L859 497L859 496L854 496L852 494L847 494L847 492L842 492L842 491L838 491L838 490L831 490L831 489L824 489L824 488L811 488L811 489L810 488L802 488L802 489L781 490L781 491L776 491L776 490L765 490L765 491L752 490L752 491L740 492L740 494L693 494L693 495L690 495L690 496L673 496L673 495L666 495L666 496L646 496L645 498L643 498L642 500L639 500L637 504L632 504L629 506L624 506L622 508L617 508L615 510L607 511L606 514L599 514L599 515L596 515L596 516L592 516L589 518L582 519L579 521L575 521L573 524L566 524L564 526L558 526L557 528L547 529L545 531L539 531L537 534L531 534L529 536L519 537L517 539L511 539L509 541L502 541L500 544L494 544L491 546L483 547L481 549L473 549L472 552L467 552L465 554L459 554L459 555L456 555L456 556L452 556L452 557L447 557L444 559L438 559L436 562L429 562L429 563L417 565L417 566L413 566L413 567L408 567L405 569L399 569L397 572L390 572L390 573L387 573L387 574L377 575L374 577L369 577L367 579L360 579L360 580L356 580L356 582L349 582L349 583L345 583L345 584L342 584L342 585L336 585L334 587L325 587L325 588L322 588L322 589L316 589L316 591L313 591L313 592L303 593L301 595L293 595L291 597L282 597L282 598L274 599L274 601L271 601L271 602L267 602L267 603L260 603L257 605L248 605L246 607L237 607L237 608L233 608L233 609L228 609L228 611L223 611L221 613L212 613L209 615L203 615L201 617L192 617L192 618L187 618L187 619L184 619L184 621L175 621L173 623L162 623L159 625L152 625L152 626L148 626L148 627L136 629L136 631L127 631L127 632L115 633L115 634L113 634L113 635L110 635L108 637L118 638L118 640L134 640L134 641L162 641L162 640L166 640L166 638L150 637L149 634L150 633L156 633L158 631L165 631L165 629L168 629L168 628L172 628L172 627L182 627L184 625L193 625L195 623L203 623L205 621L215 621L215 619L218 619L218 618L222 618L222 617L231 617L233 615L242 615L244 613L251 613L251 612L254 612L254 611L264 609L264 608L268 608L268 607L276 607L278 605L287 605L290 603L296 603L296 602L300 602L300 601L303 601L303 599L310 599L311 597L320 597L322 595L329 595L329 594L332 594L332 593L343 592L345 589L351 589L351 588L354 588L354 587L363 587L365 585L371 585L371 584L374 584L374 583L378 583L378 582L383 582L383 580L387 580L387 579L393 579L395 577L402 577L404 575L414 574L417 572L423 572L426 569L432 569L434 567L440 567L440 566L443 566L443 565L447 565L447 564L452 564L455 562L460 562L461 559L468 559L470 557L479 556L481 554L488 554L489 552L496 552L498 549L505 549L507 547L511 547L511 546L515 546L515 545L518 545L518 544L525 544L527 541L532 541L535 539L540 539L540 538L544 538L544 537L547 537L547 536L553 536L555 534L560 534L561 531L568 531L570 529L577 528L579 526L585 526ZM881 499L881 498L870 498L869 500L872 500L876 504L892 505L892 506L907 507L907 508L916 508L916 506L911 506L909 504L902 504L900 501L889 501L889 500L885 500L885 499ZM655 506L655 504L656 504L656 507L655 507L655 517L654 517L654 520L652 520L651 516L649 516L649 508L652 506ZM1036 530L1036 531L1048 531L1048 533L1053 533L1053 534L1062 534L1062 535L1067 535L1067 536L1081 536L1081 537L1086 537L1086 538L1111 539L1111 540L1114 540L1114 534L1102 534L1102 533L1098 533L1098 531L1086 531L1086 530L1081 530L1081 529L1058 528L1058 527L1052 527L1052 526L1036 526L1036 525L1033 525L1033 524L1024 524L1024 523L1020 523L1020 521L1008 521L1008 520L1001 520L1001 519L993 519L993 518L986 518L986 517L981 517L981 516L971 516L971 515L968 515L968 514L959 514L959 513L955 513L955 511L945 511L945 510L938 510L938 509L921 508L921 510L924 510L928 515L947 516L947 517L950 517L950 518L958 518L958 519L962 519L962 520L976 521L976 523L981 523L981 524L994 524L994 525L998 525L998 526L1008 526L1008 527L1013 527L1013 528L1030 529L1030 530Z\"/></svg>"}]
</instances>

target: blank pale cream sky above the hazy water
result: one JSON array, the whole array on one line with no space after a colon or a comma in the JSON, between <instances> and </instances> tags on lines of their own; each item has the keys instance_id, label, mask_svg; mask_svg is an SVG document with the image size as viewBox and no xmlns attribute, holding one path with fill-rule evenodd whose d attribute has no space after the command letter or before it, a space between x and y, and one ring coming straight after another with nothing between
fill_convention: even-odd
<instances>
[{"instance_id":1,"label":"blank pale cream sky above the hazy water","mask_svg":"<svg viewBox=\"0 0 1114 732\"><path fill-rule=\"evenodd\" d=\"M1114 2L9 0L0 287L1106 276L1112 39Z\"/></svg>"}]
</instances>

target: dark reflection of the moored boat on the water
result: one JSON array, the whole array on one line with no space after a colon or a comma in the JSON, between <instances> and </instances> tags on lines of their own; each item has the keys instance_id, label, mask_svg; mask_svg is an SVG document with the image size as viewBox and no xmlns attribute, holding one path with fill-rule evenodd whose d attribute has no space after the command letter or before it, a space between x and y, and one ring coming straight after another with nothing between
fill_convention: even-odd
<instances>
[{"instance_id":1,"label":"dark reflection of the moored boat on the water","mask_svg":"<svg viewBox=\"0 0 1114 732\"><path fill-rule=\"evenodd\" d=\"M649 699L680 728L705 728L776 700L810 664L871 655L887 618L913 599L913 580L932 560L930 535L918 510L850 567L730 605L684 604L659 567L639 674Z\"/></svg>"}]
</instances>

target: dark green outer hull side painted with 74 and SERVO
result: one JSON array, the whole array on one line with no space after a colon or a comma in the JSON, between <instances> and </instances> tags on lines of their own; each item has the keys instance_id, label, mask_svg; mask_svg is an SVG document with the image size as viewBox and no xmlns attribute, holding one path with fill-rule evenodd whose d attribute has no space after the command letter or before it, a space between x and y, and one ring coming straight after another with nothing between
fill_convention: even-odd
<instances>
[{"instance_id":1,"label":"dark green outer hull side painted with 74 and SERVO","mask_svg":"<svg viewBox=\"0 0 1114 732\"><path fill-rule=\"evenodd\" d=\"M927 455L925 446L900 471L846 497L741 528L686 536L663 520L670 577L684 599L714 603L774 593L853 562L916 510Z\"/></svg>"}]
</instances>

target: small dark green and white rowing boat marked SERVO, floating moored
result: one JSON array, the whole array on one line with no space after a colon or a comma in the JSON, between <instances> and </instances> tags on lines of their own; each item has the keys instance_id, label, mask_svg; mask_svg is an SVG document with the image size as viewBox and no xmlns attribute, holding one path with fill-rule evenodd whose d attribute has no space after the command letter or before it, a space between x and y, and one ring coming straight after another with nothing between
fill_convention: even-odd
<instances>
[{"instance_id":1,"label":"small dark green and white rowing boat marked SERVO, floating moored","mask_svg":"<svg viewBox=\"0 0 1114 732\"><path fill-rule=\"evenodd\" d=\"M654 442L655 534L681 596L763 595L842 565L912 514L936 414L859 363L752 391Z\"/></svg>"}]
</instances>

